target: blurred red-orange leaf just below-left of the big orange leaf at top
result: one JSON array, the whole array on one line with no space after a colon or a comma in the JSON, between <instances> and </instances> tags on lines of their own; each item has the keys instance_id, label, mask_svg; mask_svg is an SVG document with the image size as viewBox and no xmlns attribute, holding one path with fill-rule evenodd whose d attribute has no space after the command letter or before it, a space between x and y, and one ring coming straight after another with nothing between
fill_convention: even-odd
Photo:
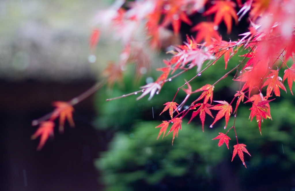
<instances>
[{"instance_id":1,"label":"blurred red-orange leaf just below-left of the big orange leaf at top","mask_svg":"<svg viewBox=\"0 0 295 191\"><path fill-rule=\"evenodd\" d=\"M196 35L197 43L200 43L202 40L204 40L207 44L211 44L212 38L217 39L217 42L220 41L217 29L218 26L212 22L200 22L191 28L191 31L198 31Z\"/></svg>"}]
</instances>

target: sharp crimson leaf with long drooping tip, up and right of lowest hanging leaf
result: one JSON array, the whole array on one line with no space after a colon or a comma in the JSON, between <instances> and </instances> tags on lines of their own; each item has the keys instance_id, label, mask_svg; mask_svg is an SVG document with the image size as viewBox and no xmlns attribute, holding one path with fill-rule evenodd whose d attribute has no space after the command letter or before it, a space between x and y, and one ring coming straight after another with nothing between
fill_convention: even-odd
<instances>
[{"instance_id":1,"label":"sharp crimson leaf with long drooping tip, up and right of lowest hanging leaf","mask_svg":"<svg viewBox=\"0 0 295 191\"><path fill-rule=\"evenodd\" d=\"M272 100L274 100L274 99L272 99ZM256 116L256 121L258 123L260 134L261 134L261 120L263 120L263 118L271 119L271 114L268 112L269 106L267 106L266 104L268 104L272 100L260 101L257 104L253 103L252 108L249 109L249 110L251 110L249 119L251 117L251 121L252 121L254 116Z\"/></svg>"}]
</instances>

